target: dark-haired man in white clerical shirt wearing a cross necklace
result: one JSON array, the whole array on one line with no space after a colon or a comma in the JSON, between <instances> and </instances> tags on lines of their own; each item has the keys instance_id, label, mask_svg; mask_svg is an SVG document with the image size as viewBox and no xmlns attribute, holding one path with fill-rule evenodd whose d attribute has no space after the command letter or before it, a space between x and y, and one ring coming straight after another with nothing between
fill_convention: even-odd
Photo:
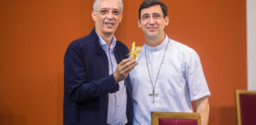
<instances>
[{"instance_id":1,"label":"dark-haired man in white clerical shirt wearing a cross necklace","mask_svg":"<svg viewBox=\"0 0 256 125\"><path fill-rule=\"evenodd\" d=\"M145 45L131 71L134 125L150 124L150 112L193 112L195 101L203 125L208 124L210 91L197 52L171 40L167 6L145 0L138 10L138 27ZM143 73L145 72L145 73Z\"/></svg>"}]
</instances>

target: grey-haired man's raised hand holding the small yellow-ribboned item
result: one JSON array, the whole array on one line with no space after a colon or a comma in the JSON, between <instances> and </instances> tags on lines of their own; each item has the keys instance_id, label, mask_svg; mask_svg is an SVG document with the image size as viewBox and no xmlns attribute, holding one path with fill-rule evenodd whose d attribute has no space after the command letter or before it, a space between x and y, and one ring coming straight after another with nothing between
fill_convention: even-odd
<instances>
[{"instance_id":1,"label":"grey-haired man's raised hand holding the small yellow-ribboned item","mask_svg":"<svg viewBox=\"0 0 256 125\"><path fill-rule=\"evenodd\" d=\"M118 64L118 67L115 70L114 78L115 82L118 83L122 80L125 80L130 71L137 65L138 63L134 59L124 59Z\"/></svg>"}]
</instances>

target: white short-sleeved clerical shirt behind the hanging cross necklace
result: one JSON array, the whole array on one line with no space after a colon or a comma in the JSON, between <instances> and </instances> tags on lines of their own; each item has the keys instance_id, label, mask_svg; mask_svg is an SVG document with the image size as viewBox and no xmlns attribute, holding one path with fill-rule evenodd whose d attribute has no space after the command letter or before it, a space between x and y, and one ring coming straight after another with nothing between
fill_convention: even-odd
<instances>
[{"instance_id":1,"label":"white short-sleeved clerical shirt behind the hanging cross necklace","mask_svg":"<svg viewBox=\"0 0 256 125\"><path fill-rule=\"evenodd\" d=\"M166 45L162 68L162 63ZM148 68L145 60L145 50ZM191 101L209 96L210 91L197 52L165 36L157 47L143 45L138 65L130 73L134 98L134 125L151 124L150 112L192 112ZM152 103L152 83L155 85L155 103Z\"/></svg>"}]
</instances>

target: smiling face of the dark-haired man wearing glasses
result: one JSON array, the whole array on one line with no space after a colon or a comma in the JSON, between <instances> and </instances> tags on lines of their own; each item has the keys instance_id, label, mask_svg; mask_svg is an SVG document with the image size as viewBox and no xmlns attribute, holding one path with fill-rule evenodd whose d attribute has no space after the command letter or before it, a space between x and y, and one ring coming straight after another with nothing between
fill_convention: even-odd
<instances>
[{"instance_id":1,"label":"smiling face of the dark-haired man wearing glasses","mask_svg":"<svg viewBox=\"0 0 256 125\"><path fill-rule=\"evenodd\" d=\"M154 18L154 15L161 17ZM143 20L143 16L150 16L148 20ZM138 27L142 29L145 38L164 37L164 27L169 24L169 17L164 17L162 8L159 5L150 6L141 10L141 19L138 20Z\"/></svg>"}]
</instances>

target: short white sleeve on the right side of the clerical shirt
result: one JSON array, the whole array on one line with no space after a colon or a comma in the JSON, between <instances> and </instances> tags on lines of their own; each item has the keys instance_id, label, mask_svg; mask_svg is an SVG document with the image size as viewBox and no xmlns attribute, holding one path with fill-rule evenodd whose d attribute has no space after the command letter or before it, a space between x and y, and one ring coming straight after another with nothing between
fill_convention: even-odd
<instances>
[{"instance_id":1,"label":"short white sleeve on the right side of the clerical shirt","mask_svg":"<svg viewBox=\"0 0 256 125\"><path fill-rule=\"evenodd\" d=\"M190 99L195 101L204 96L210 96L204 71L197 52L192 50L187 56L186 79L190 89Z\"/></svg>"}]
</instances>

